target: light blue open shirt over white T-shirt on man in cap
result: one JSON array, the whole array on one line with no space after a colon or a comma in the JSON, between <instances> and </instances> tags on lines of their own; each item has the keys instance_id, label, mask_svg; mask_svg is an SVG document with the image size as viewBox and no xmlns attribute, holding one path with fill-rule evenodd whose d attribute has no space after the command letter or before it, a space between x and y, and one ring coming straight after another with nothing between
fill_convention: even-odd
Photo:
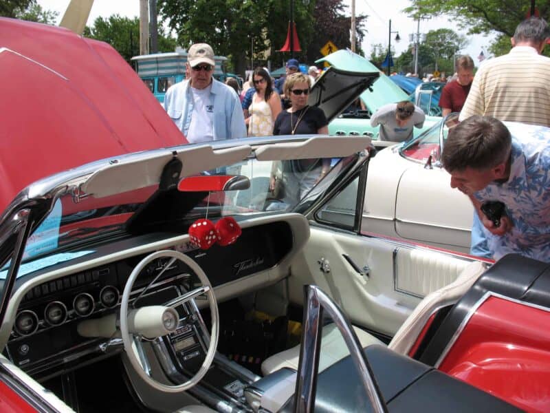
<instances>
[{"instance_id":1,"label":"light blue open shirt over white T-shirt on man in cap","mask_svg":"<svg viewBox=\"0 0 550 413\"><path fill-rule=\"evenodd\" d=\"M245 118L239 96L236 96L235 91L228 85L212 79L210 100L214 140L245 138ZM178 129L187 135L193 112L189 81L181 81L168 88L164 96L164 109Z\"/></svg>"}]
</instances>

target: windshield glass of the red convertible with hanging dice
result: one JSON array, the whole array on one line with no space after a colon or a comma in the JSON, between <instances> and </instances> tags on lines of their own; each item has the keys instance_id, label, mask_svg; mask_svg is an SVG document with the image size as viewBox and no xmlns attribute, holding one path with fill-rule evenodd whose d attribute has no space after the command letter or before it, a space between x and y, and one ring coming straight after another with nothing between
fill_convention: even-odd
<instances>
[{"instance_id":1,"label":"windshield glass of the red convertible with hanging dice","mask_svg":"<svg viewBox=\"0 0 550 413\"><path fill-rule=\"evenodd\" d=\"M300 203L311 204L356 155L348 158L259 161L248 159L228 167L205 171L203 175L239 175L250 180L250 188L210 192L186 209L177 220L196 220L208 215L254 214L292 211ZM155 193L157 186L118 193L104 198L89 196L75 202L64 195L32 233L25 246L23 262L52 253L65 253L59 260L74 256L66 251L87 251L91 239L124 233L126 222ZM158 222L166 221L156 217ZM80 249L79 249L80 248ZM84 249L83 249L84 248ZM26 271L28 272L28 271ZM22 266L19 275L25 273Z\"/></svg>"}]
</instances>

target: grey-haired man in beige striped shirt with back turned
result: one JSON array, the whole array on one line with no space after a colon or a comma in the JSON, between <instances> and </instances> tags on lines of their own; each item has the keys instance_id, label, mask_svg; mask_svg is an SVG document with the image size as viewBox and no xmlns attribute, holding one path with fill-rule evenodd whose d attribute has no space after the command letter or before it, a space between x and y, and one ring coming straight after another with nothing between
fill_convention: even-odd
<instances>
[{"instance_id":1,"label":"grey-haired man in beige striped shirt with back turned","mask_svg":"<svg viewBox=\"0 0 550 413\"><path fill-rule=\"evenodd\" d=\"M550 127L550 58L540 55L549 39L544 19L522 21L510 52L479 68L459 120L483 115Z\"/></svg>"}]
</instances>

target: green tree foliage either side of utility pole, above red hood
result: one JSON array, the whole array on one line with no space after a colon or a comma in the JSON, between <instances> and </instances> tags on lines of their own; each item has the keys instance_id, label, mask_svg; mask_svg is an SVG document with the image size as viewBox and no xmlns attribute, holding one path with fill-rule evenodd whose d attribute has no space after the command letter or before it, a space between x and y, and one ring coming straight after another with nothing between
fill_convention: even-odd
<instances>
[{"instance_id":1,"label":"green tree foliage either side of utility pole, above red hood","mask_svg":"<svg viewBox=\"0 0 550 413\"><path fill-rule=\"evenodd\" d=\"M140 20L113 14L108 19L98 17L90 28L86 26L84 36L109 43L127 61L140 53ZM159 52L173 52L175 39L165 36L159 28Z\"/></svg>"}]
</instances>

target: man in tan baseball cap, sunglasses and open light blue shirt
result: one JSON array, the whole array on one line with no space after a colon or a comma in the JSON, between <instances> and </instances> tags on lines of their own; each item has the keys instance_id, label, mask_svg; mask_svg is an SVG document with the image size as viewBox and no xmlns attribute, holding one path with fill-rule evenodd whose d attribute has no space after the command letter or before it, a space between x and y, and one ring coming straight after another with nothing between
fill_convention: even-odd
<instances>
[{"instance_id":1,"label":"man in tan baseball cap, sunglasses and open light blue shirt","mask_svg":"<svg viewBox=\"0 0 550 413\"><path fill-rule=\"evenodd\" d=\"M241 100L228 85L212 78L214 66L210 45L192 45L188 78L170 86L164 96L164 109L190 143L246 136Z\"/></svg>"}]
</instances>

